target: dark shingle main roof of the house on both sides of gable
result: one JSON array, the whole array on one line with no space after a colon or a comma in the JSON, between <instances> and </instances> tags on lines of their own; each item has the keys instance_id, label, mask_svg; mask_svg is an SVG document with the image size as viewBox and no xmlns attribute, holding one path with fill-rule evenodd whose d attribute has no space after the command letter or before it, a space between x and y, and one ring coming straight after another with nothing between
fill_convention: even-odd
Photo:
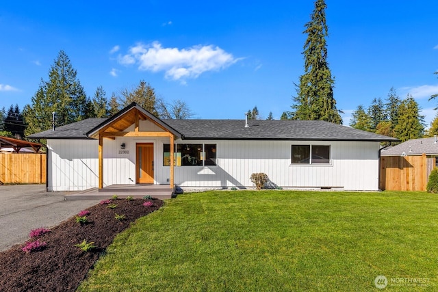
<instances>
[{"instance_id":1,"label":"dark shingle main roof of the house on both sides of gable","mask_svg":"<svg viewBox=\"0 0 438 292\"><path fill-rule=\"evenodd\" d=\"M90 118L67 124L55 131L30 135L40 139L86 139L86 133L105 118ZM322 140L322 141L399 141L339 124L320 120L163 120L185 140Z\"/></svg>"}]
</instances>

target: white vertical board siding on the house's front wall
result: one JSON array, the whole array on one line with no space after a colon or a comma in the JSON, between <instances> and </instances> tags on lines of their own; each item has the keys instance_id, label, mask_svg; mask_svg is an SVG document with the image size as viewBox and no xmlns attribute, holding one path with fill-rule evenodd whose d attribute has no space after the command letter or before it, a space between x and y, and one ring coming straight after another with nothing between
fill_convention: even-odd
<instances>
[{"instance_id":1,"label":"white vertical board siding on the house's front wall","mask_svg":"<svg viewBox=\"0 0 438 292\"><path fill-rule=\"evenodd\" d=\"M154 144L155 183L168 184L170 167L163 166L166 137L103 140L103 186L136 181L136 144ZM252 187L250 175L265 172L280 187L378 189L378 142L188 141L216 144L215 166L176 166L180 187ZM125 143L125 151L120 144ZM292 164L293 144L330 145L331 163ZM47 140L50 191L78 191L99 185L97 140Z\"/></svg>"}]
</instances>

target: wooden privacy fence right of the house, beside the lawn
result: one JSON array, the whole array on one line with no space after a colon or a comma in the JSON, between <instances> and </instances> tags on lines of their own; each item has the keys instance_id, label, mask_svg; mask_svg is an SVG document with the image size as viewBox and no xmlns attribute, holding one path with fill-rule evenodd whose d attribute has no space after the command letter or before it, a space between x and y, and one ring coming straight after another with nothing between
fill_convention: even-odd
<instances>
[{"instance_id":1,"label":"wooden privacy fence right of the house, beside the lawn","mask_svg":"<svg viewBox=\"0 0 438 292\"><path fill-rule=\"evenodd\" d=\"M382 156L380 189L391 191L426 191L435 157Z\"/></svg>"}]
</instances>

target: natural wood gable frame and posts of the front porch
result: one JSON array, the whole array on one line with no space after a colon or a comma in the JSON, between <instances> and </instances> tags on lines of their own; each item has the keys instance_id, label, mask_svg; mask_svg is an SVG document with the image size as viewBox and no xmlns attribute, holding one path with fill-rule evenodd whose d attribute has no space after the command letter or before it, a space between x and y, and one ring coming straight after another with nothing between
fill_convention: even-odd
<instances>
[{"instance_id":1,"label":"natural wood gable frame and posts of the front porch","mask_svg":"<svg viewBox=\"0 0 438 292\"><path fill-rule=\"evenodd\" d=\"M148 120L159 127L162 131L140 131L140 120ZM133 131L127 131L134 125ZM136 103L131 103L128 107L119 111L105 122L87 133L88 137L99 140L99 189L103 188L103 139L115 140L116 137L169 137L170 157L174 156L174 143L181 133L172 129L168 124L153 116ZM170 188L174 187L174 159L170 159Z\"/></svg>"}]
</instances>

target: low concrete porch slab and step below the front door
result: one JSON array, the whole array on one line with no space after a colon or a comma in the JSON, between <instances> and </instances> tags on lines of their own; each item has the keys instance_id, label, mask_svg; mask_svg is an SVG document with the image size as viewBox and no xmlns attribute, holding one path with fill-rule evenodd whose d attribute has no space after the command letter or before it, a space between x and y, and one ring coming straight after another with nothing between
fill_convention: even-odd
<instances>
[{"instance_id":1,"label":"low concrete porch slab and step below the front door","mask_svg":"<svg viewBox=\"0 0 438 292\"><path fill-rule=\"evenodd\" d=\"M125 199L128 196L133 198L143 198L144 196L151 196L157 199L170 199L175 195L176 187L170 188L169 185L109 185L99 189L94 187L86 189L85 191L69 191L64 196L65 200L106 200L116 195L118 198Z\"/></svg>"}]
</instances>

